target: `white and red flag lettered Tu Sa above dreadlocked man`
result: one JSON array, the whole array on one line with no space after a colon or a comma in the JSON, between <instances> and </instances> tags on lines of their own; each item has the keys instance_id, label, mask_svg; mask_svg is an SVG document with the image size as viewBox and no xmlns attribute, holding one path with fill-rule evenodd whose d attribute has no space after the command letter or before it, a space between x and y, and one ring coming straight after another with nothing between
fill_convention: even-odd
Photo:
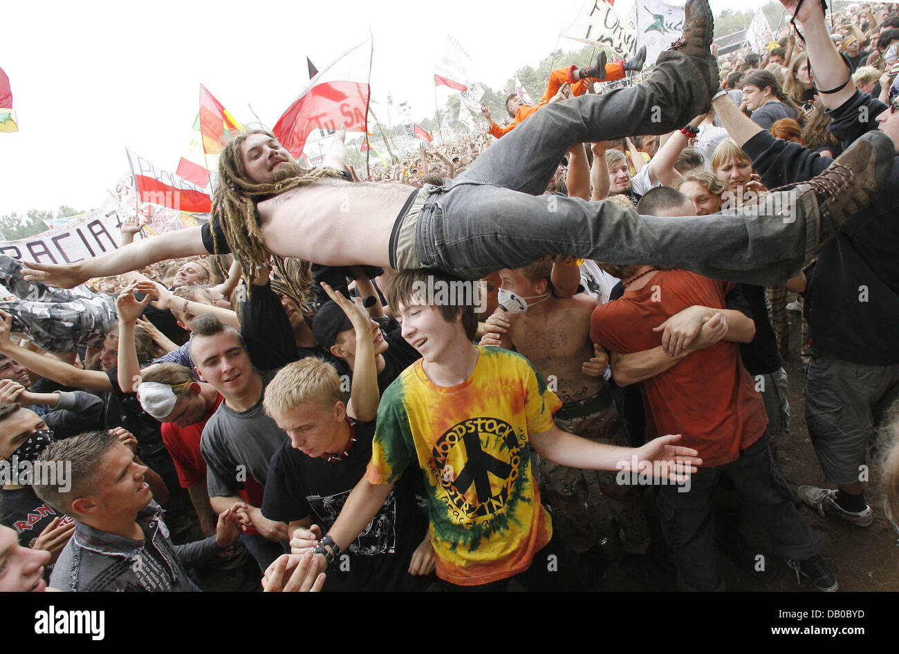
<instances>
[{"instance_id":1,"label":"white and red flag lettered Tu Sa above dreadlocked man","mask_svg":"<svg viewBox=\"0 0 899 654\"><path fill-rule=\"evenodd\" d=\"M298 158L314 129L367 132L371 40L343 53L313 77L278 119L272 132Z\"/></svg>"}]
</instances>

